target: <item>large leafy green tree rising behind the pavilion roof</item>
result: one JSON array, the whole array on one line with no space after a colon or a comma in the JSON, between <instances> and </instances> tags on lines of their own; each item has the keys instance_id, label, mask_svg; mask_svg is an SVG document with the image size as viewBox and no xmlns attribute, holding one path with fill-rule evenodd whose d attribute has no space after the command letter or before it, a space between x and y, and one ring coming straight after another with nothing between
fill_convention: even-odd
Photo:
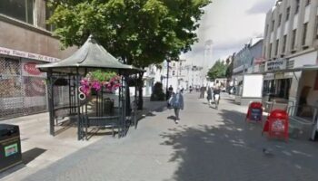
<instances>
[{"instance_id":1,"label":"large leafy green tree rising behind the pavilion roof","mask_svg":"<svg viewBox=\"0 0 318 181\"><path fill-rule=\"evenodd\" d=\"M55 10L48 24L64 47L82 45L93 34L122 62L143 68L179 60L197 41L205 5L210 0L50 0ZM143 79L143 73L138 76ZM140 88L142 103L142 88ZM142 105L138 106L142 108Z\"/></svg>"}]
</instances>

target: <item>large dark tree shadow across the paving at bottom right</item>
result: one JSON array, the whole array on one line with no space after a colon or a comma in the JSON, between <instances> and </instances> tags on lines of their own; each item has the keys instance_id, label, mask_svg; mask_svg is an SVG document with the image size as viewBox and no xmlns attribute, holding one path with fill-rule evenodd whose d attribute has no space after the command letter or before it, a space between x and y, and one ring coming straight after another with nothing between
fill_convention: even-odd
<instances>
[{"instance_id":1,"label":"large dark tree shadow across the paving at bottom right","mask_svg":"<svg viewBox=\"0 0 318 181\"><path fill-rule=\"evenodd\" d=\"M220 110L218 124L169 129L162 145L174 148L174 180L317 180L317 146L288 144L261 136L262 126L247 124L244 114ZM271 157L263 148L273 149Z\"/></svg>"}]
</instances>

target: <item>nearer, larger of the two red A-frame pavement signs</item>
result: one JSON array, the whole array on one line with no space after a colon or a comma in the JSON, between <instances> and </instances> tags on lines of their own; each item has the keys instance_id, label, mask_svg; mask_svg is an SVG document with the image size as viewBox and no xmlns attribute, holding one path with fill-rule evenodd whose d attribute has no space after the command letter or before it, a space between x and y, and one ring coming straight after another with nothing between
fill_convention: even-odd
<instances>
[{"instance_id":1,"label":"nearer, larger of the two red A-frame pavement signs","mask_svg":"<svg viewBox=\"0 0 318 181\"><path fill-rule=\"evenodd\" d=\"M286 110L273 110L267 117L263 132L268 132L268 138L284 138L288 141L288 114Z\"/></svg>"}]
</instances>

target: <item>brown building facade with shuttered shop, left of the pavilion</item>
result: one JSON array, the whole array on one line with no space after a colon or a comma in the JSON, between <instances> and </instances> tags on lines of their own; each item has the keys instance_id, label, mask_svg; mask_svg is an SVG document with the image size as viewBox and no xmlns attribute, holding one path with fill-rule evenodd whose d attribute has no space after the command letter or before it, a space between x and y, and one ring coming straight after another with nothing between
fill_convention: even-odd
<instances>
[{"instance_id":1,"label":"brown building facade with shuttered shop, left of the pavilion","mask_svg":"<svg viewBox=\"0 0 318 181\"><path fill-rule=\"evenodd\" d=\"M0 119L45 111L46 74L35 65L75 51L61 51L45 24L50 14L45 0L0 2Z\"/></svg>"}]
</instances>

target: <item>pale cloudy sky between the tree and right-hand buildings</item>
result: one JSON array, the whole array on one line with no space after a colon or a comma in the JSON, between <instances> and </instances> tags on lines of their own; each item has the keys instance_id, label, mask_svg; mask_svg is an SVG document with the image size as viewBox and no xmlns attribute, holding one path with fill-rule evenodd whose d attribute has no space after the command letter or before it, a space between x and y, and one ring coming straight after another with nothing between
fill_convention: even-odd
<instances>
[{"instance_id":1,"label":"pale cloudy sky between the tree and right-hand buildings","mask_svg":"<svg viewBox=\"0 0 318 181\"><path fill-rule=\"evenodd\" d=\"M263 36L266 13L274 4L275 0L213 0L204 7L197 31L199 42L181 59L211 67L216 60L238 52L251 38ZM209 40L212 52L204 56L204 44Z\"/></svg>"}]
</instances>

